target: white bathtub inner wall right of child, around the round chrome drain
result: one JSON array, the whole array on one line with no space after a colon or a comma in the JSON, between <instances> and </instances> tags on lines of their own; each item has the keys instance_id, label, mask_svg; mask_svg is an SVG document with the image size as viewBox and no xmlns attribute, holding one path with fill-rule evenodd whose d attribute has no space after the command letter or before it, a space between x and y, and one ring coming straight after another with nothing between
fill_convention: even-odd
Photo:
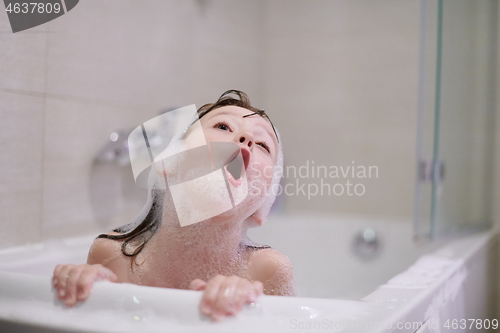
<instances>
[{"instance_id":1,"label":"white bathtub inner wall right of child, around the round chrome drain","mask_svg":"<svg viewBox=\"0 0 500 333\"><path fill-rule=\"evenodd\" d=\"M380 246L369 259L353 251L365 228L375 230ZM413 242L409 220L359 215L273 216L248 234L290 258L304 297L359 300L439 246Z\"/></svg>"}]
</instances>

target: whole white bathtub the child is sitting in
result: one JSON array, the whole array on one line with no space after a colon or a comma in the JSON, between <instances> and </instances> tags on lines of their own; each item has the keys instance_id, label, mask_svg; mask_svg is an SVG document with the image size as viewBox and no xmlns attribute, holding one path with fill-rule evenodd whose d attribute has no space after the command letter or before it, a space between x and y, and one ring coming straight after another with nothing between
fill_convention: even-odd
<instances>
[{"instance_id":1,"label":"whole white bathtub the child is sitting in","mask_svg":"<svg viewBox=\"0 0 500 333\"><path fill-rule=\"evenodd\" d=\"M453 319L489 320L493 327L496 231L413 242L410 226L347 215L270 217L249 236L289 256L298 297L262 296L221 323L199 313L201 292L132 284L98 282L86 302L66 308L54 296L52 270L85 262L95 235L5 249L0 332L425 333L444 332ZM366 230L377 241L370 253L359 252Z\"/></svg>"}]
</instances>

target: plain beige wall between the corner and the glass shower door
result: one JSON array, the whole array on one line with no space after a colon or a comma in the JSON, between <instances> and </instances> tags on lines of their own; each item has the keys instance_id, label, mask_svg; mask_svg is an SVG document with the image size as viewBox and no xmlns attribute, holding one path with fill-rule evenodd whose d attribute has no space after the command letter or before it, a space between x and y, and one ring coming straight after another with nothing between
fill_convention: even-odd
<instances>
[{"instance_id":1,"label":"plain beige wall between the corner and the glass shower door","mask_svg":"<svg viewBox=\"0 0 500 333\"><path fill-rule=\"evenodd\" d=\"M344 170L352 165L356 170L378 168L378 178L351 174L323 180L331 186L362 184L363 195L349 195L347 185L341 195L336 195L341 193L339 186L333 195L310 199L297 190L285 198L286 209L390 215L410 221L419 1L325 0L314 1L314 6L309 1L271 1L267 14L265 106L277 124L285 125L280 129L286 164L299 167L314 161L316 166ZM284 184L297 189L296 181L284 179ZM321 185L319 178L300 181Z\"/></svg>"}]
</instances>

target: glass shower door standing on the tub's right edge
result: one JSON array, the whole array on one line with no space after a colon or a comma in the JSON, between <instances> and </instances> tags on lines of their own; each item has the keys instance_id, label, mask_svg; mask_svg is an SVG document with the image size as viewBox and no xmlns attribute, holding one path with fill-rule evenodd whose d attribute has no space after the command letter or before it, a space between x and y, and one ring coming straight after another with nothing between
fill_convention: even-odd
<instances>
[{"instance_id":1,"label":"glass shower door standing on the tub's right edge","mask_svg":"<svg viewBox=\"0 0 500 333\"><path fill-rule=\"evenodd\" d=\"M422 0L415 235L491 223L494 0Z\"/></svg>"}]
</instances>

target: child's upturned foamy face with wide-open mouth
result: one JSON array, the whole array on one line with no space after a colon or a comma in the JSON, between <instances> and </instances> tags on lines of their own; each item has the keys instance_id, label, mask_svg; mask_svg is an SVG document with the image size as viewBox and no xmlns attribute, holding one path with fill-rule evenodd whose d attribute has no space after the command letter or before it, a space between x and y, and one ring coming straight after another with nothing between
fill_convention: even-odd
<instances>
[{"instance_id":1,"label":"child's upturned foamy face with wide-open mouth","mask_svg":"<svg viewBox=\"0 0 500 333\"><path fill-rule=\"evenodd\" d=\"M165 200L173 200L165 204L181 226L246 221L271 195L278 140L268 120L253 113L238 106L212 110L189 127L182 144L157 157L156 171L171 193Z\"/></svg>"}]
</instances>

